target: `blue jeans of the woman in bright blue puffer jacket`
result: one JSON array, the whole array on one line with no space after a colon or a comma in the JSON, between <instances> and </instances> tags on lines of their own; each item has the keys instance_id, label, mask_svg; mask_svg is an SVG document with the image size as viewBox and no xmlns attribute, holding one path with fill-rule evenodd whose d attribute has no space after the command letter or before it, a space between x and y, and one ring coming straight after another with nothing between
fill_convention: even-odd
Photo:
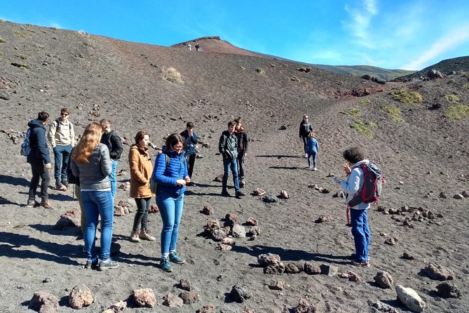
<instances>
[{"instance_id":1,"label":"blue jeans of the woman in bright blue puffer jacket","mask_svg":"<svg viewBox=\"0 0 469 313\"><path fill-rule=\"evenodd\" d=\"M175 198L166 192L156 195L156 205L160 209L163 229L161 229L161 254L176 250L177 235L179 234L179 223L184 206L184 194Z\"/></svg>"}]
</instances>

